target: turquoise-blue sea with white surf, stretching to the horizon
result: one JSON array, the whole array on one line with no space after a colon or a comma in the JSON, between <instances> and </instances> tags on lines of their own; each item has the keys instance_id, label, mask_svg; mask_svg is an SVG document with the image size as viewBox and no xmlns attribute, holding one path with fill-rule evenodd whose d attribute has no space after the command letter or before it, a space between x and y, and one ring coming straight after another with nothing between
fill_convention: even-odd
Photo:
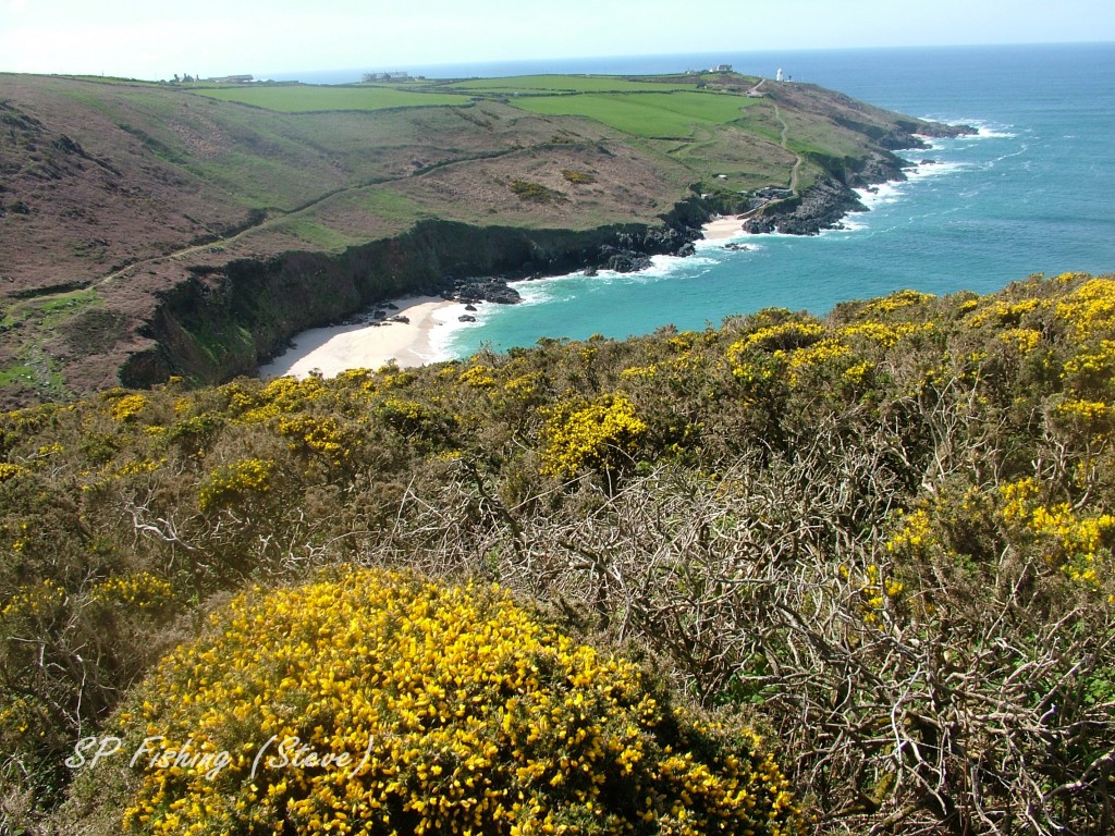
<instances>
[{"instance_id":1,"label":"turquoise-blue sea with white surf, stretching to the horizon","mask_svg":"<svg viewBox=\"0 0 1115 836\"><path fill-rule=\"evenodd\" d=\"M446 353L530 346L541 337L623 338L667 323L700 329L768 305L823 313L842 300L902 288L987 292L1031 273L1115 272L1115 43L405 69L430 77L666 72L725 61L768 77L782 68L795 81L968 123L980 134L910 152L913 162L935 162L869 195L871 211L850 216L846 231L746 236L747 252L705 243L694 257L661 257L642 273L524 282L516 285L523 304L482 305L478 322L442 346Z\"/></svg>"}]
</instances>

